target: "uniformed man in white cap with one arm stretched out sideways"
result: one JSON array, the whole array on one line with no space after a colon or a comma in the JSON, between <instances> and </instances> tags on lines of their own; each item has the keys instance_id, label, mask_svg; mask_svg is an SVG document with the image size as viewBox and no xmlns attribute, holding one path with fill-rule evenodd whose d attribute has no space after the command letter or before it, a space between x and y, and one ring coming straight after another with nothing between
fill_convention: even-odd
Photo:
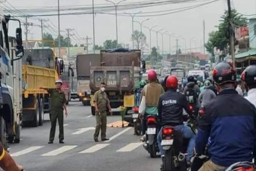
<instances>
[{"instance_id":1,"label":"uniformed man in white cap with one arm stretched out sideways","mask_svg":"<svg viewBox=\"0 0 256 171\"><path fill-rule=\"evenodd\" d=\"M59 123L59 143L64 143L64 129L63 129L63 108L65 109L65 116L68 116L66 97L63 91L61 91L62 81L57 79L55 82L55 89L50 89L47 87L40 87L40 89L45 89L50 93L50 138L48 144L52 144L55 136L56 122L58 119Z\"/></svg>"}]
</instances>

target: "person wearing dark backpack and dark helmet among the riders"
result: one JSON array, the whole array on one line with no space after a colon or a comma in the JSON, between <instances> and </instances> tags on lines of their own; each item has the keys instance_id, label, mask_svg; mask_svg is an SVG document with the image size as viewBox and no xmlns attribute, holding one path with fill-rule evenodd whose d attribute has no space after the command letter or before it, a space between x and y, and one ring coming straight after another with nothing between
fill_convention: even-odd
<instances>
[{"instance_id":1,"label":"person wearing dark backpack and dark helmet among the riders","mask_svg":"<svg viewBox=\"0 0 256 171\"><path fill-rule=\"evenodd\" d=\"M188 77L188 83L184 88L184 95L187 98L188 104L192 104L195 112L199 109L198 96L200 94L200 88L196 84L196 79L193 76Z\"/></svg>"}]
</instances>

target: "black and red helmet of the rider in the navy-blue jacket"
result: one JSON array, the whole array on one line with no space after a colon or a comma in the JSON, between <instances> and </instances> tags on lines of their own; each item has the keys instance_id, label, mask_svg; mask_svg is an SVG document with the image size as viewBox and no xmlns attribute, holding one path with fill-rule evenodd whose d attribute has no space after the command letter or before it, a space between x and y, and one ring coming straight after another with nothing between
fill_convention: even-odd
<instances>
[{"instance_id":1,"label":"black and red helmet of the rider in the navy-blue jacket","mask_svg":"<svg viewBox=\"0 0 256 171\"><path fill-rule=\"evenodd\" d=\"M220 62L212 70L212 78L217 85L227 82L236 83L236 71L230 62Z\"/></svg>"}]
</instances>

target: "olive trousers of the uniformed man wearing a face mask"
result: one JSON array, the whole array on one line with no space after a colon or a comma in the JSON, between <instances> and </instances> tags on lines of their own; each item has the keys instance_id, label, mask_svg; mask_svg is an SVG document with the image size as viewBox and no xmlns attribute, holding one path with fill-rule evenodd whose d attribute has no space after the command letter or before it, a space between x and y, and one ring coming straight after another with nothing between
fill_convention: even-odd
<instances>
[{"instance_id":1,"label":"olive trousers of the uniformed man wearing a face mask","mask_svg":"<svg viewBox=\"0 0 256 171\"><path fill-rule=\"evenodd\" d=\"M107 112L99 112L95 114L96 118L96 128L93 135L94 139L98 139L99 131L101 131L101 140L106 139L107 130Z\"/></svg>"}]
</instances>

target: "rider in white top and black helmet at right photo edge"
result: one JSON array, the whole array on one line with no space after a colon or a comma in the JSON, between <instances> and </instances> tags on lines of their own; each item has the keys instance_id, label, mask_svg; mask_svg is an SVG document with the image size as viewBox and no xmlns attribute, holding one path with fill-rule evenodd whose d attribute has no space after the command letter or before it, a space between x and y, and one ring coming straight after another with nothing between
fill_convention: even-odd
<instances>
[{"instance_id":1,"label":"rider in white top and black helmet at right photo edge","mask_svg":"<svg viewBox=\"0 0 256 171\"><path fill-rule=\"evenodd\" d=\"M256 65L250 65L242 72L241 81L248 90L245 98L256 107Z\"/></svg>"}]
</instances>

